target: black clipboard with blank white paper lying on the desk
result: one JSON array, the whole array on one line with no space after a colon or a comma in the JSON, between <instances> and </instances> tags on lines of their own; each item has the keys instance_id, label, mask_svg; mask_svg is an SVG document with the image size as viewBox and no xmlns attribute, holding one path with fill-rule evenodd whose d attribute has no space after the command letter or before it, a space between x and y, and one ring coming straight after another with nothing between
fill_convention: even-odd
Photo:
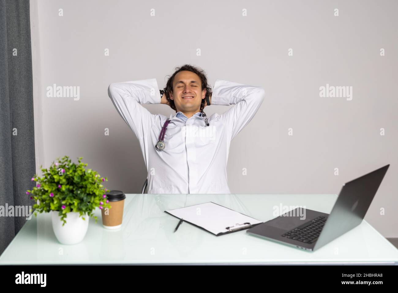
<instances>
[{"instance_id":1,"label":"black clipboard with blank white paper lying on the desk","mask_svg":"<svg viewBox=\"0 0 398 293\"><path fill-rule=\"evenodd\" d=\"M263 223L212 201L165 212L216 236L249 229Z\"/></svg>"}]
</instances>

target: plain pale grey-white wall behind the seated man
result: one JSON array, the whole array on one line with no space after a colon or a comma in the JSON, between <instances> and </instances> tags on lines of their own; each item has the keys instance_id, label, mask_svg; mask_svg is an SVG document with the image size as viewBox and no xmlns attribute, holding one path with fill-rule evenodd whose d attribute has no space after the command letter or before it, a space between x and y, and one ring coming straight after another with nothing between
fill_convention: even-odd
<instances>
[{"instance_id":1,"label":"plain pale grey-white wall behind the seated man","mask_svg":"<svg viewBox=\"0 0 398 293\"><path fill-rule=\"evenodd\" d=\"M175 66L190 63L205 69L211 86L220 78L263 86L267 94L232 141L232 193L338 193L344 182L391 164L365 220L384 236L398 237L397 6L31 0L37 172L58 156L83 156L109 178L107 188L139 193L146 178L139 143L107 87L156 78L163 88ZM80 100L47 98L54 83L80 86ZM319 88L327 83L352 86L352 100L321 98ZM173 113L166 105L145 107ZM206 113L226 109L213 105Z\"/></svg>"}]
</instances>

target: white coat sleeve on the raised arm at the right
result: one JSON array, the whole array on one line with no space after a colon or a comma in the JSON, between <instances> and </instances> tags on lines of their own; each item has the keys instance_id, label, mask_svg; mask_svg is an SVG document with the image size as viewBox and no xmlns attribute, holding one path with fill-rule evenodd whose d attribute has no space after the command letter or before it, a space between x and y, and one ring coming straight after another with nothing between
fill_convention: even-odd
<instances>
[{"instance_id":1,"label":"white coat sleeve on the raised arm at the right","mask_svg":"<svg viewBox=\"0 0 398 293\"><path fill-rule=\"evenodd\" d=\"M211 94L211 104L235 104L222 113L219 118L230 131L231 140L252 120L264 98L265 90L261 86L216 80Z\"/></svg>"}]
</instances>

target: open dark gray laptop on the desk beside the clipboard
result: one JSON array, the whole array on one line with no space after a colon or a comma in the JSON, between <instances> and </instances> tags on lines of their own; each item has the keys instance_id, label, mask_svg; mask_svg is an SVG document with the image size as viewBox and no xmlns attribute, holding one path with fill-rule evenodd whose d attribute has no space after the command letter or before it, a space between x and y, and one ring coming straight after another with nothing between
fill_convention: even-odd
<instances>
[{"instance_id":1,"label":"open dark gray laptop on the desk beside the clipboard","mask_svg":"<svg viewBox=\"0 0 398 293\"><path fill-rule=\"evenodd\" d=\"M330 214L297 207L246 232L299 249L317 250L361 224L389 166L343 184Z\"/></svg>"}]
</instances>

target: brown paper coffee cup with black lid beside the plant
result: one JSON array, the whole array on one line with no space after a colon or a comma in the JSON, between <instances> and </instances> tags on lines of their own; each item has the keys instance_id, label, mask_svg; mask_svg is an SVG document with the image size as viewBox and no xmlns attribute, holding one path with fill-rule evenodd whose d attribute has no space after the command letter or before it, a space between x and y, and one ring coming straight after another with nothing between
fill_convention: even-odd
<instances>
[{"instance_id":1,"label":"brown paper coffee cup with black lid beside the plant","mask_svg":"<svg viewBox=\"0 0 398 293\"><path fill-rule=\"evenodd\" d=\"M106 195L111 208L101 209L102 225L106 229L118 229L122 225L126 195L120 190L111 190Z\"/></svg>"}]
</instances>

